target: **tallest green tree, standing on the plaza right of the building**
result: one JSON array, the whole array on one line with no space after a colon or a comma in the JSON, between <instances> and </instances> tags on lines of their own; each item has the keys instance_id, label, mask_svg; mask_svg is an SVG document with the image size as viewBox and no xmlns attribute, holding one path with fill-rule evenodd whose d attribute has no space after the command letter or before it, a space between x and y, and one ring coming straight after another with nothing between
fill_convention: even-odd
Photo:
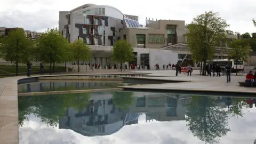
<instances>
[{"instance_id":1,"label":"tallest green tree, standing on the plaza right of the building","mask_svg":"<svg viewBox=\"0 0 256 144\"><path fill-rule=\"evenodd\" d=\"M188 25L189 31L186 36L189 51L192 58L203 62L203 69L205 69L206 61L214 56L220 39L226 38L228 26L226 20L221 19L218 13L212 11L198 15ZM202 75L204 73L205 71Z\"/></svg>"}]
</instances>

